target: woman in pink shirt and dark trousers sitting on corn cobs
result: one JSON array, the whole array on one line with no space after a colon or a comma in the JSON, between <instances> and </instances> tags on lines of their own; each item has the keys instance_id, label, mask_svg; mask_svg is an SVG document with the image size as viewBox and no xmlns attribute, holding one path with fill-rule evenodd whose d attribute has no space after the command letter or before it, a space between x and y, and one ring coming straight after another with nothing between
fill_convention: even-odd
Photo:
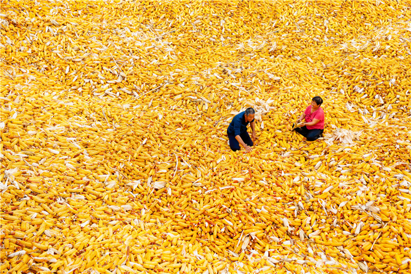
<instances>
[{"instance_id":1,"label":"woman in pink shirt and dark trousers sitting on corn cobs","mask_svg":"<svg viewBox=\"0 0 411 274\"><path fill-rule=\"evenodd\" d=\"M298 118L299 126L294 130L307 138L308 141L315 141L323 136L324 132L324 111L321 108L323 99L320 96L312 98L311 105L307 106L305 112ZM301 123L305 119L304 123Z\"/></svg>"}]
</instances>

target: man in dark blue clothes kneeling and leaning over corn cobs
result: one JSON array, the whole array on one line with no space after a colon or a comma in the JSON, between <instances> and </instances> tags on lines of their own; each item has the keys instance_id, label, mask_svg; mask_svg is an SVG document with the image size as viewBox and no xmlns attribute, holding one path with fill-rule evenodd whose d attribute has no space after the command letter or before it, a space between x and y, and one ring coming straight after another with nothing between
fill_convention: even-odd
<instances>
[{"instance_id":1,"label":"man in dark blue clothes kneeling and leaning over corn cobs","mask_svg":"<svg viewBox=\"0 0 411 274\"><path fill-rule=\"evenodd\" d=\"M254 122L255 111L254 108L249 107L245 112L240 112L234 116L230 125L227 129L228 139L230 140L230 148L232 151L237 151L243 147L246 152L251 152L253 141L255 141L255 122ZM250 123L251 130L253 133L250 139L250 135L247 133L247 125Z\"/></svg>"}]
</instances>

